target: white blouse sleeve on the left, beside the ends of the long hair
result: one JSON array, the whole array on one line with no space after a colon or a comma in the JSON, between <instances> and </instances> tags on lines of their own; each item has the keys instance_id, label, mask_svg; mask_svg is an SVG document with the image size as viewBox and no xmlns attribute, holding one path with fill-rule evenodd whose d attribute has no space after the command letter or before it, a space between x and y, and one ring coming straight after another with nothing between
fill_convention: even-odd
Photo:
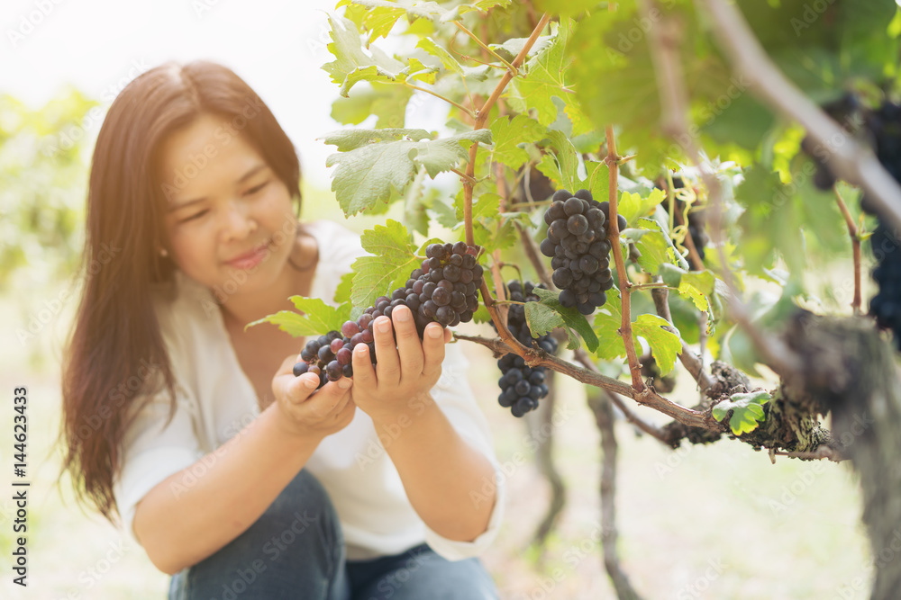
<instances>
[{"instance_id":1,"label":"white blouse sleeve on the left, beside the ends of the long hair","mask_svg":"<svg viewBox=\"0 0 901 600\"><path fill-rule=\"evenodd\" d=\"M125 432L123 467L113 479L113 493L125 533L139 545L132 529L135 506L160 481L186 469L204 455L191 416L196 399L177 381L175 389L176 411L171 422L168 422L171 403L168 390L161 390L150 399L132 400L145 404Z\"/></svg>"}]
</instances>

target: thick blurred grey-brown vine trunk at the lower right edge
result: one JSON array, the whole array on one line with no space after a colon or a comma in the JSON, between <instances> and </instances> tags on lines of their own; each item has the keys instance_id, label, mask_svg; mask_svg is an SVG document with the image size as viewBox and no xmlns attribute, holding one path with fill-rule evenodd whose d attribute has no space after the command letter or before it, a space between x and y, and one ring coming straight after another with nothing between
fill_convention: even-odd
<instances>
[{"instance_id":1,"label":"thick blurred grey-brown vine trunk at the lower right edge","mask_svg":"<svg viewBox=\"0 0 901 600\"><path fill-rule=\"evenodd\" d=\"M787 342L805 362L788 390L832 409L833 443L851 458L863 489L876 567L872 600L901 594L901 378L896 357L866 318L800 312Z\"/></svg>"}]
</instances>

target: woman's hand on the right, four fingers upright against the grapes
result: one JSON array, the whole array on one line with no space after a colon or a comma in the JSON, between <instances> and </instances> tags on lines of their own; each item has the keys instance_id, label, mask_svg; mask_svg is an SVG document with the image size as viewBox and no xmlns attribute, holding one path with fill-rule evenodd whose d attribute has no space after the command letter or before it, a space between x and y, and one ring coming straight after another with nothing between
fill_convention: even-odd
<instances>
[{"instance_id":1,"label":"woman's hand on the right, four fingers upright against the grapes","mask_svg":"<svg viewBox=\"0 0 901 600\"><path fill-rule=\"evenodd\" d=\"M405 306L393 309L391 317L373 321L375 367L367 345L357 345L353 353L353 402L377 424L393 422L412 402L428 399L441 377L444 345L451 339L449 329L430 323L420 341L413 315Z\"/></svg>"}]
</instances>

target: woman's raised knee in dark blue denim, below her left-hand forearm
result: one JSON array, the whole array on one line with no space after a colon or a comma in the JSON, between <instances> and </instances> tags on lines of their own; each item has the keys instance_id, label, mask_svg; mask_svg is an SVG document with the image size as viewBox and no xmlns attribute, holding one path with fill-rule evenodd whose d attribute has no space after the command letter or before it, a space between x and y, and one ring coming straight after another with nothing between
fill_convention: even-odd
<instances>
[{"instance_id":1,"label":"woman's raised knee in dark blue denim, below her left-hand forearm","mask_svg":"<svg viewBox=\"0 0 901 600\"><path fill-rule=\"evenodd\" d=\"M169 599L328 598L344 540L322 484L301 470L247 531L172 578Z\"/></svg>"}]
</instances>

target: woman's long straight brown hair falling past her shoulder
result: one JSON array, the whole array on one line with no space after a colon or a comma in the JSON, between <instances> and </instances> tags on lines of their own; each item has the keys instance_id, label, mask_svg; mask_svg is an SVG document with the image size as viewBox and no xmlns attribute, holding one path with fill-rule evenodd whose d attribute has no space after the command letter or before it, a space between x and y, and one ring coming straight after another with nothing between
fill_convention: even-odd
<instances>
[{"instance_id":1,"label":"woman's long straight brown hair falling past her shoulder","mask_svg":"<svg viewBox=\"0 0 901 600\"><path fill-rule=\"evenodd\" d=\"M240 130L287 185L300 209L300 163L272 112L241 77L221 65L168 62L135 78L116 97L97 137L87 193L83 282L64 353L63 463L79 503L111 523L118 514L114 474L121 468L123 434L141 396L175 384L159 332L151 291L172 282L165 190L157 152L168 134L201 114Z\"/></svg>"}]
</instances>

